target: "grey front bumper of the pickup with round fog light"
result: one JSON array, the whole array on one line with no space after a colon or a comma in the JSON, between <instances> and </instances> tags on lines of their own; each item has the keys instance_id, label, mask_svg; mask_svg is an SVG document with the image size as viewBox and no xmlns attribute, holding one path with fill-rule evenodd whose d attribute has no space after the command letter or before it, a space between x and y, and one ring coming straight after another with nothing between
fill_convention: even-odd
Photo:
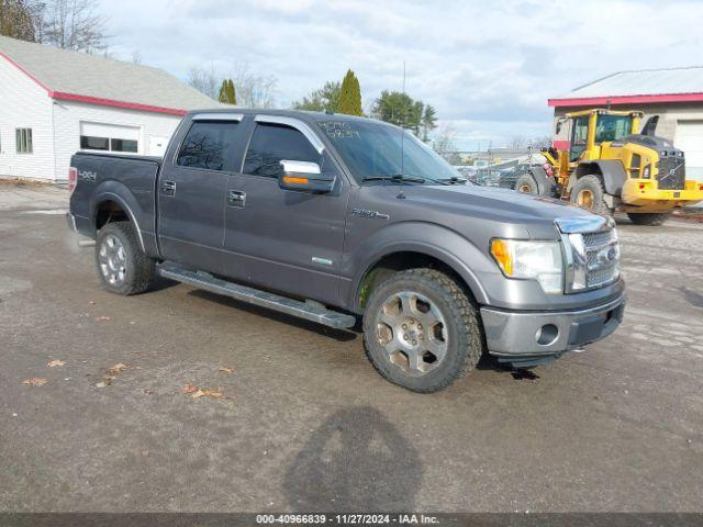
<instances>
[{"instance_id":1,"label":"grey front bumper of the pickup with round fog light","mask_svg":"<svg viewBox=\"0 0 703 527\"><path fill-rule=\"evenodd\" d=\"M491 355L520 360L558 356L613 333L623 319L626 295L581 311L515 312L481 307Z\"/></svg>"}]
</instances>

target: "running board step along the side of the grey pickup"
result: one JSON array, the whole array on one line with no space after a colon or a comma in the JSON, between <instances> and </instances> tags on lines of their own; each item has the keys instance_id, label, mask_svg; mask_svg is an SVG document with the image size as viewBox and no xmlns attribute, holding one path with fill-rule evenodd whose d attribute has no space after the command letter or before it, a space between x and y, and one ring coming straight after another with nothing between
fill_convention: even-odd
<instances>
[{"instance_id":1,"label":"running board step along the side of the grey pickup","mask_svg":"<svg viewBox=\"0 0 703 527\"><path fill-rule=\"evenodd\" d=\"M277 294L267 293L254 288L247 288L234 282L227 282L202 271L190 271L172 265L158 267L158 273L170 280L187 283L198 289L204 289L217 294L231 296L248 304L267 307L306 321L316 322L335 329L345 329L356 324L354 315L330 311L316 302L300 302Z\"/></svg>"}]
</instances>

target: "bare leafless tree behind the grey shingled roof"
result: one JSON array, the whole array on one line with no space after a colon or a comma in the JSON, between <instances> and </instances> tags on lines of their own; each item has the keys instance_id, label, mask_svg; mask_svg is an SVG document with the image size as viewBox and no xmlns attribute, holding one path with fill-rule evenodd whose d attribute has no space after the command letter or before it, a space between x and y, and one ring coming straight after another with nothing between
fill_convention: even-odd
<instances>
[{"instance_id":1,"label":"bare leafless tree behind the grey shingled roof","mask_svg":"<svg viewBox=\"0 0 703 527\"><path fill-rule=\"evenodd\" d=\"M107 21L96 14L97 5L97 0L48 0L42 5L38 41L74 52L104 52Z\"/></svg>"}]
</instances>

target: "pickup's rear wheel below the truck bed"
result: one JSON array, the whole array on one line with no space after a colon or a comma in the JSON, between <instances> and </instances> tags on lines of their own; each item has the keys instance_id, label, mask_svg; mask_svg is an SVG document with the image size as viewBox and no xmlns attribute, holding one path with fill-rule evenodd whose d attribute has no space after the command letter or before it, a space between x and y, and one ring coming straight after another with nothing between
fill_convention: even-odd
<instances>
[{"instance_id":1,"label":"pickup's rear wheel below the truck bed","mask_svg":"<svg viewBox=\"0 0 703 527\"><path fill-rule=\"evenodd\" d=\"M113 268L110 258L101 251L109 251L109 242L114 246L114 238L124 250L119 257L119 265ZM115 258L119 254L118 249ZM143 293L152 287L156 277L155 262L142 251L134 226L130 222L108 223L98 232L96 267L102 285L110 292L124 295ZM112 280L113 277L115 280Z\"/></svg>"}]
</instances>

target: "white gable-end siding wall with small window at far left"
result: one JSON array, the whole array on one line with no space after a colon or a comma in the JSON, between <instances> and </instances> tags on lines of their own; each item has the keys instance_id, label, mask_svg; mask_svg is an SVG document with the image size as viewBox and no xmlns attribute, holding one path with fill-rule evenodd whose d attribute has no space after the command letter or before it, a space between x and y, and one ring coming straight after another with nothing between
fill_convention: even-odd
<instances>
[{"instance_id":1,"label":"white gable-end siding wall with small window at far left","mask_svg":"<svg viewBox=\"0 0 703 527\"><path fill-rule=\"evenodd\" d=\"M0 177L54 179L52 99L0 56ZM32 154L18 154L15 128L32 128Z\"/></svg>"}]
</instances>

